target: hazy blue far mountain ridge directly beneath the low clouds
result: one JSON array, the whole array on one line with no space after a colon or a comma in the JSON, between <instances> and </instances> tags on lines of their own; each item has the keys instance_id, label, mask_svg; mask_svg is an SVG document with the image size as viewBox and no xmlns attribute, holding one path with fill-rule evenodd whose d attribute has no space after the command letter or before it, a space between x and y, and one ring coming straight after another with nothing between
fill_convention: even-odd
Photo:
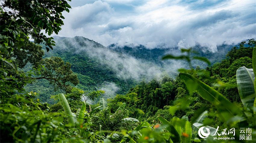
<instances>
[{"instance_id":1,"label":"hazy blue far mountain ridge directly beneath the low clouds","mask_svg":"<svg viewBox=\"0 0 256 143\"><path fill-rule=\"evenodd\" d=\"M131 44L130 44L131 45ZM222 44L217 46L217 52L212 52L208 47L201 46L200 44L196 44L196 46L192 47L193 51L196 53L192 53L193 55L205 57L211 61L212 64L215 62L221 61L228 51L231 50L232 47L236 45L228 45L228 44ZM133 57L140 58L140 59L147 59L149 61L153 61L156 63L161 63L161 59L165 54L181 54L180 49L178 47L170 47L170 48L154 48L154 49L148 49L144 45L138 45L138 46L118 46L118 44L111 44L107 46L108 48L112 49L113 51L116 51L118 53L125 53L129 54ZM195 65L196 66L196 65ZM204 68L204 67L202 67Z\"/></svg>"}]
</instances>

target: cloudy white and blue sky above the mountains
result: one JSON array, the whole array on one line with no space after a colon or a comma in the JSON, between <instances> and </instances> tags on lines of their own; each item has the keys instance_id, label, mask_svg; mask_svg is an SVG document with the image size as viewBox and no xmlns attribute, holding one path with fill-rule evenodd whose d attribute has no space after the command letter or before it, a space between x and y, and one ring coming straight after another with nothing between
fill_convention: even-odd
<instances>
[{"instance_id":1,"label":"cloudy white and blue sky above the mountains","mask_svg":"<svg viewBox=\"0 0 256 143\"><path fill-rule=\"evenodd\" d=\"M83 36L103 46L147 48L217 45L256 38L255 0L73 0L59 36Z\"/></svg>"}]
</instances>

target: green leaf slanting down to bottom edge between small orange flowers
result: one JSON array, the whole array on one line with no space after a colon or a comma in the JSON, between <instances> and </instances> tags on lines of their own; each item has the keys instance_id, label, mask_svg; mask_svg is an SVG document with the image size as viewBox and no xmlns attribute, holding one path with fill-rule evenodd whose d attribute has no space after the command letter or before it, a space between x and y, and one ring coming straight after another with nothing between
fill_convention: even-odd
<instances>
[{"instance_id":1,"label":"green leaf slanting down to bottom edge between small orange flowers","mask_svg":"<svg viewBox=\"0 0 256 143\"><path fill-rule=\"evenodd\" d=\"M160 122L162 122L163 126L166 126L166 130L168 132L170 132L172 135L171 135L171 139L174 143L176 142L180 142L180 134L177 132L177 130L175 129L175 127L170 123L168 122L166 119L164 119L163 117L159 117L158 118Z\"/></svg>"}]
</instances>

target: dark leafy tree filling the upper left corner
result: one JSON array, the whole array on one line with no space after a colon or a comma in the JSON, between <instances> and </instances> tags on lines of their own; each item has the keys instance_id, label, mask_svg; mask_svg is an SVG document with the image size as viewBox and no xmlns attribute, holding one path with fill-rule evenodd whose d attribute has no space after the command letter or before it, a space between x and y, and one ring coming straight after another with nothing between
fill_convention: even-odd
<instances>
[{"instance_id":1,"label":"dark leafy tree filling the upper left corner","mask_svg":"<svg viewBox=\"0 0 256 143\"><path fill-rule=\"evenodd\" d=\"M18 68L28 62L34 68L42 60L41 47L29 42L43 43L46 50L52 49L55 42L45 33L58 34L64 24L63 11L69 12L70 5L65 0L19 1L4 0L0 4L0 95L11 96L20 92L26 83L31 83L31 73Z\"/></svg>"}]
</instances>

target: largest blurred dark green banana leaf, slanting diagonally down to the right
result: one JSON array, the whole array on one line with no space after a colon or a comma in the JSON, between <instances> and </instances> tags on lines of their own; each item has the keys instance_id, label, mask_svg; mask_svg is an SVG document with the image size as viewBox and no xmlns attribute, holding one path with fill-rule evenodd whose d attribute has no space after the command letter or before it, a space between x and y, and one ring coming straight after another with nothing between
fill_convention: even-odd
<instances>
[{"instance_id":1,"label":"largest blurred dark green banana leaf, slanting diagonally down to the right","mask_svg":"<svg viewBox=\"0 0 256 143\"><path fill-rule=\"evenodd\" d=\"M201 82L192 75L185 73L181 73L179 76L182 80L185 80L190 93L198 91L201 97L211 102L218 109L219 113L222 115L222 120L228 121L229 118L234 117L237 114L241 114L238 106L232 104L226 97L206 85L204 82Z\"/></svg>"}]
</instances>

